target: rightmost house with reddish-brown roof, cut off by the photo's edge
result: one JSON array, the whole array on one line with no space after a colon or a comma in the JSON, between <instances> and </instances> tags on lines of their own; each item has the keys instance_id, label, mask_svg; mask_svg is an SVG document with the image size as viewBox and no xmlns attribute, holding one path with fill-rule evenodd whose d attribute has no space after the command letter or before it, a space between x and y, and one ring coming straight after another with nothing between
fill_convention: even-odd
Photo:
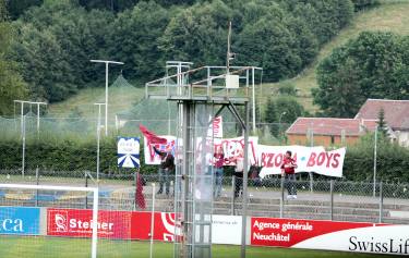
<instances>
[{"instance_id":1,"label":"rightmost house with reddish-brown roof, cut off by the photo's edge","mask_svg":"<svg viewBox=\"0 0 409 258\"><path fill-rule=\"evenodd\" d=\"M409 100L366 99L356 119L377 120L381 109L389 127L389 137L409 147Z\"/></svg>"}]
</instances>

